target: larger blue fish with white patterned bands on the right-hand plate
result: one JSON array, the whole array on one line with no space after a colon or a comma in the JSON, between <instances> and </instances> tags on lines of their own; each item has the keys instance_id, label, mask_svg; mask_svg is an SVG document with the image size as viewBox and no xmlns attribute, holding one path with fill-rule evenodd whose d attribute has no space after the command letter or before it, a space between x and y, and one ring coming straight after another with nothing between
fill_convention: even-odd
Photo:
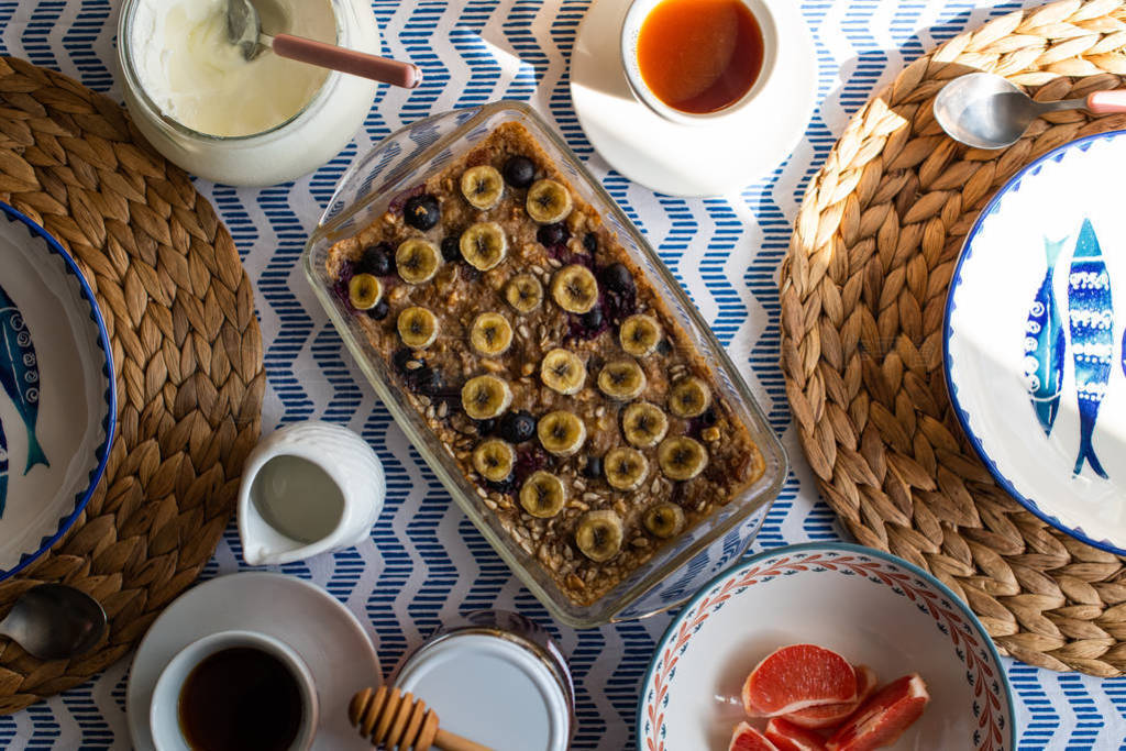
<instances>
[{"instance_id":1,"label":"larger blue fish with white patterned bands on the right-hand plate","mask_svg":"<svg viewBox=\"0 0 1126 751\"><path fill-rule=\"evenodd\" d=\"M1110 298L1110 276L1102 262L1102 249L1090 220L1083 220L1067 276L1067 306L1071 321L1071 348L1075 360L1075 391L1079 397L1079 457L1075 474L1083 463L1100 477L1107 473L1094 456L1091 436L1099 418L1099 405L1110 379L1115 307Z\"/></svg>"}]
</instances>

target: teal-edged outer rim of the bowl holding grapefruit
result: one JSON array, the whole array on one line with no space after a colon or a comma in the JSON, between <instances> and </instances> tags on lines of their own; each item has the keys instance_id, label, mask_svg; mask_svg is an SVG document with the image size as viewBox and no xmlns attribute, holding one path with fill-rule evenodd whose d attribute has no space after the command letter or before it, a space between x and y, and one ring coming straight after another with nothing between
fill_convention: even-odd
<instances>
[{"instance_id":1,"label":"teal-edged outer rim of the bowl holding grapefruit","mask_svg":"<svg viewBox=\"0 0 1126 751\"><path fill-rule=\"evenodd\" d=\"M958 609L958 613L965 617L966 623L971 625L976 632L977 636L985 645L985 650L989 652L989 658L992 663L997 667L998 672L998 683L1001 688L1001 694L1004 696L1004 705L1008 709L1009 716L1009 727L1008 727L1008 749L1016 751L1017 749L1017 710L1012 703L1012 687L1009 685L1009 677L1004 671L1004 665L1001 662L1001 655L997 651L997 645L993 644L993 640L990 638L989 633L985 631L985 626L977 618L973 610L966 606L962 599L954 593L954 591L944 584L941 581L935 578L933 574L923 571L915 564L904 561L897 555L892 555L891 553L885 553L884 551L878 551L874 547L865 547L864 545L856 545L854 543L838 543L838 542L826 542L826 543L799 543L797 545L784 545L781 547L774 547L761 553L756 553L749 558L744 558L736 565L727 569L726 571L714 576L708 583L704 584L692 598L685 604L683 609L677 614L677 617L672 619L669 627L664 629L661 638L656 641L656 646L653 650L653 658L650 660L649 668L645 669L645 680L642 683L641 694L637 697L637 719L635 723L635 735L637 736L637 751L651 751L645 746L645 739L642 733L642 728L645 722L645 704L646 697L649 695L649 687L653 682L653 676L656 672L658 663L661 661L661 655L664 652L665 645L676 634L676 631L683 623L685 617L696 609L700 600L708 596L708 593L716 588L721 582L726 579L732 579L740 575L742 572L759 565L763 561L769 561L770 558L787 557L801 554L815 554L815 553L851 553L855 555L865 555L870 558L877 558L884 563L890 563L892 565L903 569L905 572L911 573L928 585L932 587L942 597L948 599L950 604ZM694 632L695 633L695 632Z\"/></svg>"}]
</instances>

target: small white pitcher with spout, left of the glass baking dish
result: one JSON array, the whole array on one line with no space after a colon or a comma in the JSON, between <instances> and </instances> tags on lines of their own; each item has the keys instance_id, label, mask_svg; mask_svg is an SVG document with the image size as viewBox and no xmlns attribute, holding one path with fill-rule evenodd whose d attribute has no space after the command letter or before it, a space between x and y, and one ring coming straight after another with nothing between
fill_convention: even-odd
<instances>
[{"instance_id":1,"label":"small white pitcher with spout, left of the glass baking dish","mask_svg":"<svg viewBox=\"0 0 1126 751\"><path fill-rule=\"evenodd\" d=\"M242 471L239 537L250 565L354 547L383 510L383 464L347 428L309 421L263 439Z\"/></svg>"}]
</instances>

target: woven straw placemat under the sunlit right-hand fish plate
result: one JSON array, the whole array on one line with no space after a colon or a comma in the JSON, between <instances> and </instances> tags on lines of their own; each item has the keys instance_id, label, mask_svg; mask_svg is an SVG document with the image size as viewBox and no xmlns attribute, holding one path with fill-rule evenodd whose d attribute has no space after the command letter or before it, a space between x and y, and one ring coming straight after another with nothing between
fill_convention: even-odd
<instances>
[{"instance_id":1,"label":"woven straw placemat under the sunlit right-hand fish plate","mask_svg":"<svg viewBox=\"0 0 1126 751\"><path fill-rule=\"evenodd\" d=\"M1126 2L1066 0L999 17L909 65L856 114L806 194L781 271L783 369L805 455L857 539L929 570L1025 662L1126 671L1123 560L1009 498L958 428L942 318L962 243L1017 170L1126 116L1037 120L967 150L931 111L951 78L1008 77L1037 99L1118 88Z\"/></svg>"}]
</instances>

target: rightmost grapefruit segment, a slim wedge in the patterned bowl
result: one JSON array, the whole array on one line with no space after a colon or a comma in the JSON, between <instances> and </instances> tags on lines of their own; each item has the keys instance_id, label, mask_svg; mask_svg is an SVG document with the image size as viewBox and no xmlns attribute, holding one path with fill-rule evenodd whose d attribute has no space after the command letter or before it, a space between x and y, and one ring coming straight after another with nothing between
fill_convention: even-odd
<instances>
[{"instance_id":1,"label":"rightmost grapefruit segment, a slim wedge in the patterned bowl","mask_svg":"<svg viewBox=\"0 0 1126 751\"><path fill-rule=\"evenodd\" d=\"M872 751L895 743L930 701L919 673L904 676L860 705L825 743L828 751Z\"/></svg>"}]
</instances>

